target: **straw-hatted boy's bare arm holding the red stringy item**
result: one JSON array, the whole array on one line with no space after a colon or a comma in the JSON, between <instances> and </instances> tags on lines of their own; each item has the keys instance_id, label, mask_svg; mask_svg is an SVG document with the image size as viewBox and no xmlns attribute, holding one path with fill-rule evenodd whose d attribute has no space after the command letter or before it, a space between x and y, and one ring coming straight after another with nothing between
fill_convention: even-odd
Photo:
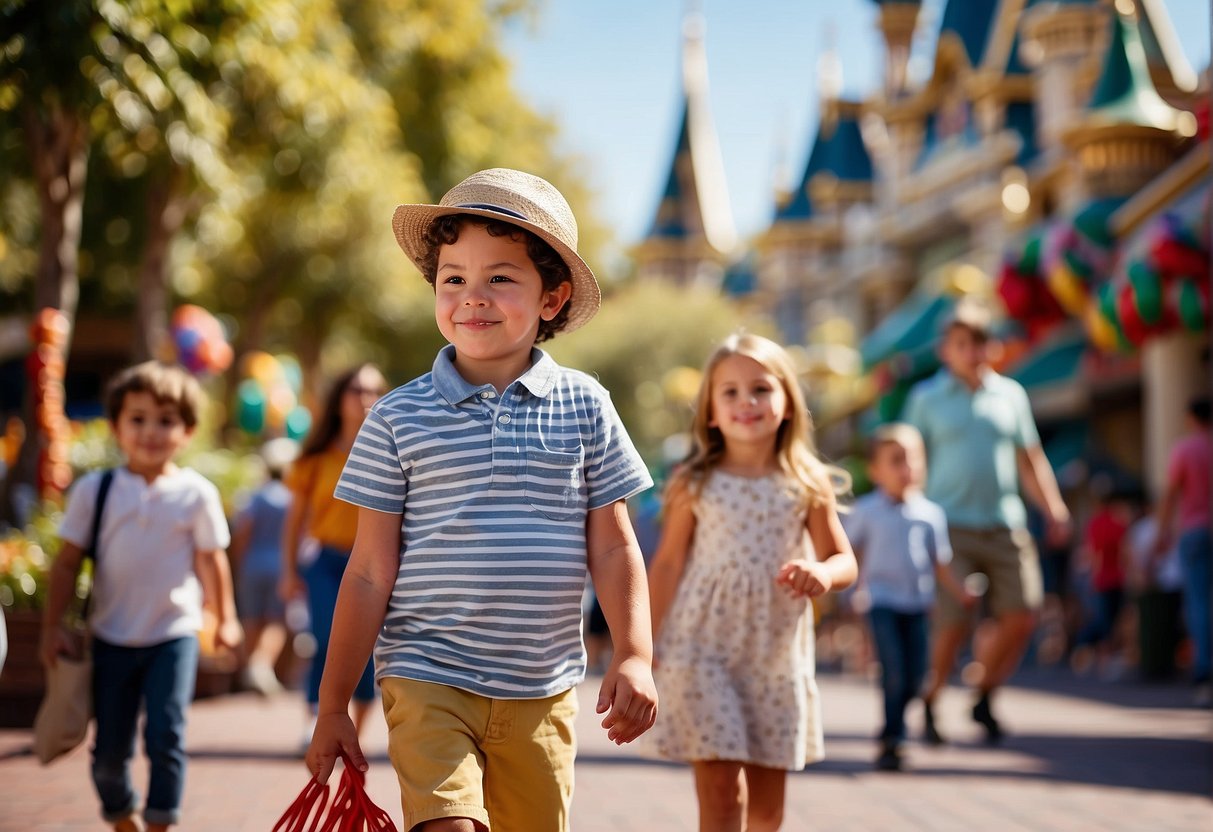
<instances>
[{"instance_id":1,"label":"straw-hatted boy's bare arm holding the red stringy item","mask_svg":"<svg viewBox=\"0 0 1213 832\"><path fill-rule=\"evenodd\" d=\"M349 700L387 617L400 566L400 523L399 513L358 509L358 535L332 612L320 710L307 752L307 768L321 785L342 751L359 771L366 770L366 757L349 719Z\"/></svg>"}]
</instances>

